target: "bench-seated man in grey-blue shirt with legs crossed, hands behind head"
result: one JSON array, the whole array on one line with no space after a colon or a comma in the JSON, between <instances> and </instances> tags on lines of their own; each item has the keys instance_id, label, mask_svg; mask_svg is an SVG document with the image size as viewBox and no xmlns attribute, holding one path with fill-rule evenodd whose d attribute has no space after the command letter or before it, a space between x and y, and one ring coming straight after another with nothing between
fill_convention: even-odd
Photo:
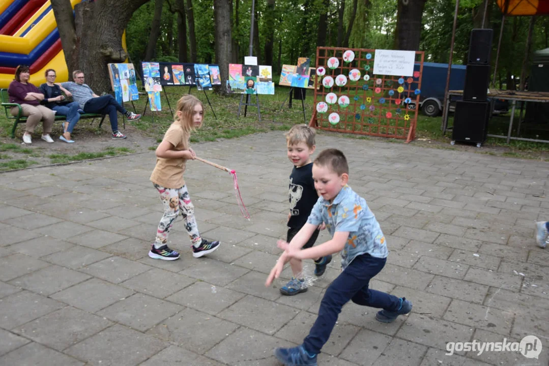
<instances>
[{"instance_id":1,"label":"bench-seated man in grey-blue shirt with legs crossed, hands behind head","mask_svg":"<svg viewBox=\"0 0 549 366\"><path fill-rule=\"evenodd\" d=\"M92 89L84 83L84 72L76 70L72 72L74 82L68 81L59 85L67 89L72 94L72 99L78 102L80 108L86 113L108 114L110 119L110 127L113 129L113 138L124 139L126 136L118 131L118 119L116 111L124 114L128 120L138 120L140 114L127 111L121 106L113 95L107 94L99 97ZM68 95L70 97L70 95Z\"/></svg>"}]
</instances>

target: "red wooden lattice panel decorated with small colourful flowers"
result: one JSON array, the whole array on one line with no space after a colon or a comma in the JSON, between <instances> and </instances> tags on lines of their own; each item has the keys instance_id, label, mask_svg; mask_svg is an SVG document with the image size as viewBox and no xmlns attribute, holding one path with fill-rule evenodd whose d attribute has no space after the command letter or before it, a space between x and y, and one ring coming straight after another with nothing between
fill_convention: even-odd
<instances>
[{"instance_id":1,"label":"red wooden lattice panel decorated with small colourful flowers","mask_svg":"<svg viewBox=\"0 0 549 366\"><path fill-rule=\"evenodd\" d=\"M352 50L355 53L355 59L351 63L343 61L343 53L346 50ZM336 69L328 67L330 57L338 58L339 66ZM326 88L322 85L323 77L315 75L320 88L315 89L315 106L310 126L325 131L406 139L406 142L415 138L418 114L416 106L419 106L419 94L416 90L421 92L424 53L416 52L414 71L418 72L414 72L413 77L374 75L375 57L374 49L317 47L316 67L317 70L320 66L326 68L326 75L323 77L332 76L335 81L337 76L343 74L348 81L343 87L334 83L333 87ZM349 72L352 69L360 71L361 76L358 81L349 79ZM368 81L363 78L365 74L369 75ZM400 78L404 79L404 83L399 83ZM404 90L398 92L399 87ZM317 103L326 102L326 95L330 92L335 93L338 99L341 95L347 95L349 105L343 108L335 103L328 106L326 113L317 112ZM405 103L406 98L410 98L410 101L416 104ZM337 125L332 125L328 121L328 116L332 112L339 114L340 121Z\"/></svg>"}]
</instances>

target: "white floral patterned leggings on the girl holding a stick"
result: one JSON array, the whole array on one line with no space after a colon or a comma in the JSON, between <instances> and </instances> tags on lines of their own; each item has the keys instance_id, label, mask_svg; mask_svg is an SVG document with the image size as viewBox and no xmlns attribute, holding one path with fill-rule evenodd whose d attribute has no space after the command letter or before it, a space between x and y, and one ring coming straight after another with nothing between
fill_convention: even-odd
<instances>
[{"instance_id":1,"label":"white floral patterned leggings on the girl holding a stick","mask_svg":"<svg viewBox=\"0 0 549 366\"><path fill-rule=\"evenodd\" d=\"M158 184L154 184L154 188L160 193L160 200L164 205L164 216L162 216L158 224L154 246L159 248L166 245L173 221L175 221L181 210L185 229L191 238L193 246L198 247L202 238L198 231L197 221L194 218L194 206L193 202L191 202L187 185L183 185L181 188L164 188Z\"/></svg>"}]
</instances>

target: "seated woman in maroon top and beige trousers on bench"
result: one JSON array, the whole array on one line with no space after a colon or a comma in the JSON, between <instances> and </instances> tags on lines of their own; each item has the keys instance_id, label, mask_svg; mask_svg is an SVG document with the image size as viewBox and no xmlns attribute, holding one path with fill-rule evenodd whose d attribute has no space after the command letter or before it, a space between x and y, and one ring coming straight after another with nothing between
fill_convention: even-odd
<instances>
[{"instance_id":1,"label":"seated woman in maroon top and beige trousers on bench","mask_svg":"<svg viewBox=\"0 0 549 366\"><path fill-rule=\"evenodd\" d=\"M20 104L21 109L23 109L23 116L27 117L25 133L23 134L23 142L25 144L32 143L31 134L40 120L43 121L42 139L52 143L53 139L49 134L52 132L55 114L51 109L40 105L41 100L44 99L44 94L29 82L29 78L29 66L17 66L15 69L15 79L8 87L9 103ZM14 106L10 112L16 116L19 113L19 109Z\"/></svg>"}]
</instances>

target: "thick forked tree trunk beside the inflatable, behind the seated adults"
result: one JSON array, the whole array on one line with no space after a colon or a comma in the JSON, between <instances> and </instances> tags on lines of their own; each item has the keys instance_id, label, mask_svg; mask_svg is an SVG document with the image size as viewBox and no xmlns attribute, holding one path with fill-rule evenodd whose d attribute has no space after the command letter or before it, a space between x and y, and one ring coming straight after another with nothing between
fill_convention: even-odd
<instances>
[{"instance_id":1,"label":"thick forked tree trunk beside the inflatable, behind the seated adults","mask_svg":"<svg viewBox=\"0 0 549 366\"><path fill-rule=\"evenodd\" d=\"M147 1L86 1L75 5L73 17L70 2L51 0L69 75L82 70L94 92L110 91L107 64L126 60L122 33L133 12Z\"/></svg>"}]
</instances>

